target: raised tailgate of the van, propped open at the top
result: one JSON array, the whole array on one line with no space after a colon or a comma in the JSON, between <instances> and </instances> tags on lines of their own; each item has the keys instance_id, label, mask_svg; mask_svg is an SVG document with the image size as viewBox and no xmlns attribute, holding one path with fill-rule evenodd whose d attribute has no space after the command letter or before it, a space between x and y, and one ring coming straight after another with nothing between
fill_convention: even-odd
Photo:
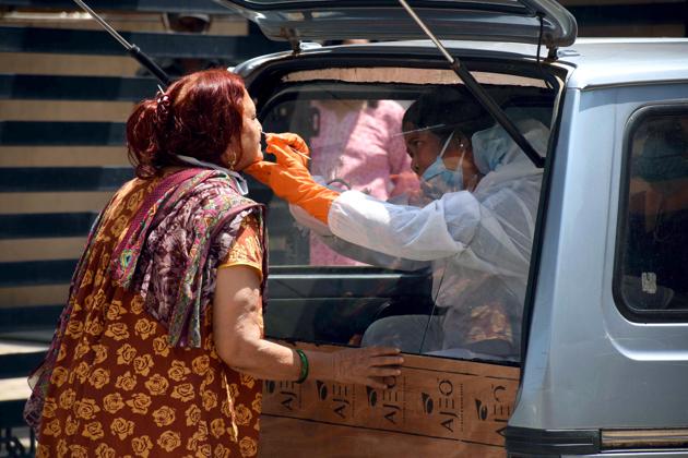
<instances>
[{"instance_id":1,"label":"raised tailgate of the van, propped open at the top","mask_svg":"<svg viewBox=\"0 0 688 458\"><path fill-rule=\"evenodd\" d=\"M217 0L256 22L272 39L376 40L426 36L396 0ZM571 45L576 20L553 0L410 1L442 39Z\"/></svg>"}]
</instances>

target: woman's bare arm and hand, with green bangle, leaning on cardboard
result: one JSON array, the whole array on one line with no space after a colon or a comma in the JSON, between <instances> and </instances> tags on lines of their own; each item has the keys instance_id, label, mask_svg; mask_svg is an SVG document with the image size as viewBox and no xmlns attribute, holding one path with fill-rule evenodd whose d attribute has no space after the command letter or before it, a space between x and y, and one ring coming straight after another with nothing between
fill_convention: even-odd
<instances>
[{"instance_id":1,"label":"woman's bare arm and hand, with green bangle, leaning on cardboard","mask_svg":"<svg viewBox=\"0 0 688 458\"><path fill-rule=\"evenodd\" d=\"M245 374L296 381L301 362L289 347L262 338L260 280L254 268L236 265L217 272L213 301L213 335L220 358ZM384 377L401 373L403 358L394 348L305 351L309 378L385 388Z\"/></svg>"}]
</instances>

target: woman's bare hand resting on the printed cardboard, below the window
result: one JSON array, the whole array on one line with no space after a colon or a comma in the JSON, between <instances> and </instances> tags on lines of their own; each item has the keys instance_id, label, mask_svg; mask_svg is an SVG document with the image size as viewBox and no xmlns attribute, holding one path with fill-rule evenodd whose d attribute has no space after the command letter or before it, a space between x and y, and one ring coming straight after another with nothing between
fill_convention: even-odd
<instances>
[{"instance_id":1,"label":"woman's bare hand resting on the printed cardboard, below the window","mask_svg":"<svg viewBox=\"0 0 688 458\"><path fill-rule=\"evenodd\" d=\"M401 350L390 347L352 348L332 353L332 379L384 389L385 377L401 374Z\"/></svg>"}]
</instances>

